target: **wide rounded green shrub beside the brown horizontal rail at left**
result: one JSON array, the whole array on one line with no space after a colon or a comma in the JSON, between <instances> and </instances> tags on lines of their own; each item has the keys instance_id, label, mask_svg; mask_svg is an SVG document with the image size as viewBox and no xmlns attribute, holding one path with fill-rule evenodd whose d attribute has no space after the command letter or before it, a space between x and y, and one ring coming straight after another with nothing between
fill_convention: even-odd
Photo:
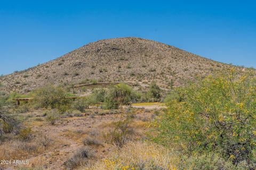
<instances>
[{"instance_id":1,"label":"wide rounded green shrub beside the brown horizontal rail at left","mask_svg":"<svg viewBox=\"0 0 256 170\"><path fill-rule=\"evenodd\" d=\"M60 87L46 86L35 90L32 96L36 108L58 108L63 112L70 104L67 94Z\"/></svg>"}]
</instances>

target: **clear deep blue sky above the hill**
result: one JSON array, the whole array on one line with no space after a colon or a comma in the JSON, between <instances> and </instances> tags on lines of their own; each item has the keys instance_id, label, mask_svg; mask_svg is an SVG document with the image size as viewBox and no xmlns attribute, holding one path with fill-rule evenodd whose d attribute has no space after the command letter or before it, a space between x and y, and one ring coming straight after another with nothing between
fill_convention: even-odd
<instances>
[{"instance_id":1,"label":"clear deep blue sky above the hill","mask_svg":"<svg viewBox=\"0 0 256 170\"><path fill-rule=\"evenodd\" d=\"M256 3L0 0L0 74L116 37L147 38L256 67Z\"/></svg>"}]
</instances>

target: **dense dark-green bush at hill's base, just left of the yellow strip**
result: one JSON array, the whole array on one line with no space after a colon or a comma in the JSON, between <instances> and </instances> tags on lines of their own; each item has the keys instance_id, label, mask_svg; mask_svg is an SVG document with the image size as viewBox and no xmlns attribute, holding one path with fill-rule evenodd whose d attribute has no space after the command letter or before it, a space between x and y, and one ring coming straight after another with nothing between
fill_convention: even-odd
<instances>
[{"instance_id":1,"label":"dense dark-green bush at hill's base, just left of the yellow strip","mask_svg":"<svg viewBox=\"0 0 256 170\"><path fill-rule=\"evenodd\" d=\"M105 108L116 109L119 105L129 105L137 100L138 96L130 86L119 83L110 88L104 106Z\"/></svg>"}]
</instances>

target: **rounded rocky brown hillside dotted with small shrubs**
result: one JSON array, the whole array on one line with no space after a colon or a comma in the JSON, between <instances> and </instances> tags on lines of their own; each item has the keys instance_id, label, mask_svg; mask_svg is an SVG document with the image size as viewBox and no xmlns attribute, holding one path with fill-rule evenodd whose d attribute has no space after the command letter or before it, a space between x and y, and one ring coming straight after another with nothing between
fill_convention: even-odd
<instances>
[{"instance_id":1,"label":"rounded rocky brown hillside dotted with small shrubs","mask_svg":"<svg viewBox=\"0 0 256 170\"><path fill-rule=\"evenodd\" d=\"M162 88L180 86L230 65L141 38L100 40L36 67L0 78L2 91L28 92L46 84L157 81Z\"/></svg>"}]
</instances>

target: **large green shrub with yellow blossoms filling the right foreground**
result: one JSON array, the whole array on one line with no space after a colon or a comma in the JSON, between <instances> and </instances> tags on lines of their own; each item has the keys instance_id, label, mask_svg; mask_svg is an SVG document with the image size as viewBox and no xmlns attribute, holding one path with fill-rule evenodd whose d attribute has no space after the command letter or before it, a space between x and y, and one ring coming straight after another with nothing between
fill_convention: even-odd
<instances>
[{"instance_id":1,"label":"large green shrub with yellow blossoms filling the right foreground","mask_svg":"<svg viewBox=\"0 0 256 170\"><path fill-rule=\"evenodd\" d=\"M191 152L218 152L249 163L256 146L256 79L234 71L180 89L160 122L156 141Z\"/></svg>"}]
</instances>

